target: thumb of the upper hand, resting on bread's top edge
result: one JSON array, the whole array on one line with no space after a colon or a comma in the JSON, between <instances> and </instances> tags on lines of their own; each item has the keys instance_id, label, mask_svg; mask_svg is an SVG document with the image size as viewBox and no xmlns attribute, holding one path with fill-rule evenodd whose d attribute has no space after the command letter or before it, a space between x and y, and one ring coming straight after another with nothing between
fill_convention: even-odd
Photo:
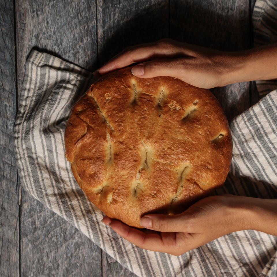
<instances>
[{"instance_id":1,"label":"thumb of the upper hand, resting on bread's top edge","mask_svg":"<svg viewBox=\"0 0 277 277\"><path fill-rule=\"evenodd\" d=\"M182 76L185 76L181 59L155 60L140 63L132 68L132 74L140 78L171 76L181 79Z\"/></svg>"}]
</instances>

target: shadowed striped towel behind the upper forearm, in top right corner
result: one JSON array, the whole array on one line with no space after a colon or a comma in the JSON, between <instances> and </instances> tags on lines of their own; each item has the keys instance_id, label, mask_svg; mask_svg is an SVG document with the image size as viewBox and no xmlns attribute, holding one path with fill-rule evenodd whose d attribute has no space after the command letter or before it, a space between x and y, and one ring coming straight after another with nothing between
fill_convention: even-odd
<instances>
[{"instance_id":1,"label":"shadowed striped towel behind the upper forearm, in top right corner","mask_svg":"<svg viewBox=\"0 0 277 277\"><path fill-rule=\"evenodd\" d=\"M277 42L277 0L257 0L255 2L252 24L254 32L254 46L261 46ZM270 81L256 81L261 97L276 89L277 79Z\"/></svg>"}]
</instances>

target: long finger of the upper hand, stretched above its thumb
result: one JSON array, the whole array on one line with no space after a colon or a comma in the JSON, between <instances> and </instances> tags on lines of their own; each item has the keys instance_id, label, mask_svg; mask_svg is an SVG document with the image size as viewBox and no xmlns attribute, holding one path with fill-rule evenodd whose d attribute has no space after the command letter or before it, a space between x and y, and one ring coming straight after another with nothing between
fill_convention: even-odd
<instances>
[{"instance_id":1,"label":"long finger of the upper hand, stretched above its thumb","mask_svg":"<svg viewBox=\"0 0 277 277\"><path fill-rule=\"evenodd\" d=\"M127 50L123 50L121 53L117 54L103 65L99 69L99 72L100 74L106 74L113 70L131 65L132 63L147 61L155 55L174 55L181 51L182 48L180 46L175 46L166 41L140 44L127 48Z\"/></svg>"}]
</instances>

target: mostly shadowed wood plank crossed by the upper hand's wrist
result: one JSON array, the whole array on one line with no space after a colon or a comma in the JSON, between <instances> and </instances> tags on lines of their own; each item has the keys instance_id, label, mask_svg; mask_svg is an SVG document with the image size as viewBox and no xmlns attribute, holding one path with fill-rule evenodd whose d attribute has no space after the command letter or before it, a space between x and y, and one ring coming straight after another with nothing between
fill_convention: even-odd
<instances>
[{"instance_id":1,"label":"mostly shadowed wood plank crossed by the upper hand's wrist","mask_svg":"<svg viewBox=\"0 0 277 277\"><path fill-rule=\"evenodd\" d=\"M218 50L249 48L250 4L244 1L170 1L170 36ZM249 107L249 83L212 89L229 120Z\"/></svg>"}]
</instances>

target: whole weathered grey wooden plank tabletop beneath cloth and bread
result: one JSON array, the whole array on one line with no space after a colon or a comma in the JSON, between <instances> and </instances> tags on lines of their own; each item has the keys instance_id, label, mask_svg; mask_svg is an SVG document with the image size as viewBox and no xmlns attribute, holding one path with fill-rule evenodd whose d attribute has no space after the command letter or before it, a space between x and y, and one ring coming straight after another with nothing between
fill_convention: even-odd
<instances>
[{"instance_id":1,"label":"whole weathered grey wooden plank tabletop beneath cloth and bread","mask_svg":"<svg viewBox=\"0 0 277 277\"><path fill-rule=\"evenodd\" d=\"M0 276L135 276L21 187L13 125L33 47L96 70L123 48L164 37L252 47L254 0L0 0ZM212 89L229 120L254 83Z\"/></svg>"}]
</instances>

